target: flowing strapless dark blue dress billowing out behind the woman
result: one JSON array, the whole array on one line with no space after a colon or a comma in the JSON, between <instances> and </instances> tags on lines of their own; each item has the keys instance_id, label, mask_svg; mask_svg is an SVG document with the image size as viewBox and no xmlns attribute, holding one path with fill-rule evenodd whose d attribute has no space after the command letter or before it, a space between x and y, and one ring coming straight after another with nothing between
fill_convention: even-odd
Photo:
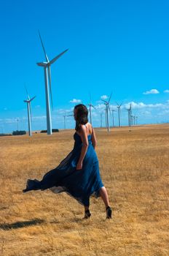
<instances>
[{"instance_id":1,"label":"flowing strapless dark blue dress billowing out behind the woman","mask_svg":"<svg viewBox=\"0 0 169 256\"><path fill-rule=\"evenodd\" d=\"M54 193L66 192L82 205L89 206L90 195L99 197L99 190L103 187L103 183L99 173L98 157L92 145L92 135L87 137L89 145L81 170L76 170L76 165L82 150L82 140L75 132L74 148L67 157L55 169L47 172L42 181L28 179L23 192L38 189L50 189Z\"/></svg>"}]
</instances>

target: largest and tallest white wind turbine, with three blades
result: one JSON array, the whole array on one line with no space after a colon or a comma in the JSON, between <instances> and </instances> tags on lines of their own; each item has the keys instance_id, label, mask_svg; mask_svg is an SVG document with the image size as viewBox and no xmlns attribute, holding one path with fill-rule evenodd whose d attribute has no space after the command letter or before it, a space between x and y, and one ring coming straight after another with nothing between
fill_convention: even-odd
<instances>
[{"instance_id":1,"label":"largest and tallest white wind turbine, with three blades","mask_svg":"<svg viewBox=\"0 0 169 256\"><path fill-rule=\"evenodd\" d=\"M44 83L45 83L45 94L46 94L46 110L47 110L47 134L52 135L52 121L51 121L51 113L50 113L50 97L51 97L51 103L52 103L52 87L51 87L51 64L53 64L57 59L60 58L64 53L66 53L66 50L64 50L62 53L60 53L58 56L56 56L52 61L48 59L47 53L44 49L44 44L42 42L42 37L39 32L39 37L42 43L42 48L44 50L44 56L46 61L37 63L38 66L44 67ZM50 83L50 91L48 82ZM53 105L52 105L53 110Z\"/></svg>"}]
</instances>

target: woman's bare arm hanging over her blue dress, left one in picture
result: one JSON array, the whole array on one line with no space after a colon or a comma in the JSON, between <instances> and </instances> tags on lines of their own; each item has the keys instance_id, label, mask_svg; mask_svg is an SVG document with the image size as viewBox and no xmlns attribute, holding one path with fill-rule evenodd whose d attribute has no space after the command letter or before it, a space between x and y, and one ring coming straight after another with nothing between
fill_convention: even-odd
<instances>
[{"instance_id":1,"label":"woman's bare arm hanging over her blue dress, left one in picture","mask_svg":"<svg viewBox=\"0 0 169 256\"><path fill-rule=\"evenodd\" d=\"M86 132L86 127L84 127L84 125L81 126L81 130L80 130L80 137L82 139L82 151L79 157L79 161L76 165L76 170L81 170L82 169L82 162L83 159L85 157L85 154L87 152L87 148L88 148L88 138L87 138L87 132Z\"/></svg>"}]
</instances>

